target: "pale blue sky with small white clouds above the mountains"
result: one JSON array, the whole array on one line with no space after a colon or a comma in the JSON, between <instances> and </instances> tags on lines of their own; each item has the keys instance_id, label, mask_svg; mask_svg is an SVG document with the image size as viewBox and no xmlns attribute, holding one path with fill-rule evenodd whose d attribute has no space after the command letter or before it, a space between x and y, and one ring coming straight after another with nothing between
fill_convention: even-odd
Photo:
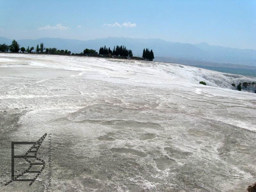
<instances>
[{"instance_id":1,"label":"pale blue sky with small white clouds above the mountains","mask_svg":"<svg viewBox=\"0 0 256 192\"><path fill-rule=\"evenodd\" d=\"M0 0L0 5L0 36L10 39L115 36L256 49L256 0Z\"/></svg>"}]
</instances>

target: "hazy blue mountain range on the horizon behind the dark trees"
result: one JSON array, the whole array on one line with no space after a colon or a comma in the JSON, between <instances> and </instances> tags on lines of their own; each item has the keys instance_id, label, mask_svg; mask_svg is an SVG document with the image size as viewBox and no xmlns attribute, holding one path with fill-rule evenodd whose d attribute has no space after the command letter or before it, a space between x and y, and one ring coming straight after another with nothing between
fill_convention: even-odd
<instances>
[{"instance_id":1,"label":"hazy blue mountain range on the horizon behind the dark trees","mask_svg":"<svg viewBox=\"0 0 256 192\"><path fill-rule=\"evenodd\" d=\"M125 37L107 37L86 41L46 37L35 40L21 39L17 41L25 48L28 46L36 47L37 44L42 42L44 43L44 47L68 49L74 53L83 52L85 48L99 51L99 48L104 45L111 49L113 49L115 45L126 45L126 48L132 49L134 56L140 57L143 48L148 47L149 49L153 49L156 58L155 60L161 60L161 58L164 57L164 61L166 62L168 62L168 58L170 57L172 58L171 60L175 58L182 60L217 62L222 63L223 67L225 67L225 63L256 66L256 50L213 46L207 43L183 44L164 41L162 39L135 39ZM11 44L11 42L11 39L0 37L0 44Z\"/></svg>"}]
</instances>

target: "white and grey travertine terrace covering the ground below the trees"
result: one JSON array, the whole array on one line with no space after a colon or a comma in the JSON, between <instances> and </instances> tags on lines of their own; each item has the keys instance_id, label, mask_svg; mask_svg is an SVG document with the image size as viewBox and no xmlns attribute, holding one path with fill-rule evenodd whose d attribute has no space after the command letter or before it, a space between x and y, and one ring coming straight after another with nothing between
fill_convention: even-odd
<instances>
[{"instance_id":1,"label":"white and grey travertine terrace covering the ground below the trees","mask_svg":"<svg viewBox=\"0 0 256 192\"><path fill-rule=\"evenodd\" d=\"M231 84L252 81L179 64L1 53L1 153L3 138L51 132L53 191L244 191L256 181L256 94ZM47 173L38 179L29 190L47 189Z\"/></svg>"}]
</instances>

